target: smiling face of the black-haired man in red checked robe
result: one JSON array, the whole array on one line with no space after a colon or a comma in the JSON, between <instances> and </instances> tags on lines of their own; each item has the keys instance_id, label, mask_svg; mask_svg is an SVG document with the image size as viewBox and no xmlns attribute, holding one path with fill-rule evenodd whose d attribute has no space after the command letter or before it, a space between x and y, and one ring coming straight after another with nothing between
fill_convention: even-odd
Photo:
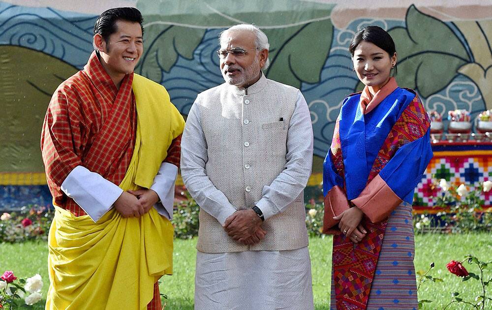
<instances>
[{"instance_id":1,"label":"smiling face of the black-haired man in red checked robe","mask_svg":"<svg viewBox=\"0 0 492 310\"><path fill-rule=\"evenodd\" d=\"M142 28L139 23L119 20L117 31L105 41L94 35L94 44L101 55L101 64L117 87L125 74L133 72L143 53Z\"/></svg>"}]
</instances>

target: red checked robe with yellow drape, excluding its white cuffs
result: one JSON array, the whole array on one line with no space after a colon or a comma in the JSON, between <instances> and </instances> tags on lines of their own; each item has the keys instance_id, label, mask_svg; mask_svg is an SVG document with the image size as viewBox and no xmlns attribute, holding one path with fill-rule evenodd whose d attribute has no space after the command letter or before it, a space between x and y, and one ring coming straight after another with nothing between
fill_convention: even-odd
<instances>
[{"instance_id":1,"label":"red checked robe with yellow drape, excluding its white cuffs","mask_svg":"<svg viewBox=\"0 0 492 310\"><path fill-rule=\"evenodd\" d=\"M168 152L179 152L183 128L161 85L132 73L117 89L95 52L57 89L41 137L56 208L46 309L147 308L157 279L172 273L170 221L154 208L140 218L111 209L94 223L60 185L81 165L123 190L149 188L166 157L179 157Z\"/></svg>"}]
</instances>

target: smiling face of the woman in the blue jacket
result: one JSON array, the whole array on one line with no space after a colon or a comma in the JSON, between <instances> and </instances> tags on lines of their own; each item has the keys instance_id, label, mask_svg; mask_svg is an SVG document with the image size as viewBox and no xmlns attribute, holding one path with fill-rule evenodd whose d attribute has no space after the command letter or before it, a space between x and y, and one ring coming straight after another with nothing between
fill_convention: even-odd
<instances>
[{"instance_id":1,"label":"smiling face of the woman in the blue jacket","mask_svg":"<svg viewBox=\"0 0 492 310\"><path fill-rule=\"evenodd\" d=\"M352 57L357 77L364 85L380 89L390 79L391 67L397 62L397 54L392 57L375 44L361 41Z\"/></svg>"}]
</instances>

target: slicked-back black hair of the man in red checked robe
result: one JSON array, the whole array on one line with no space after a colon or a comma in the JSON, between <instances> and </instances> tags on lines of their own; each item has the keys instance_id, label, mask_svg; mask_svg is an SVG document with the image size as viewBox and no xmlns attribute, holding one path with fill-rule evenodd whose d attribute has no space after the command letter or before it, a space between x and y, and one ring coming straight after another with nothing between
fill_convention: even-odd
<instances>
[{"instance_id":1,"label":"slicked-back black hair of the man in red checked robe","mask_svg":"<svg viewBox=\"0 0 492 310\"><path fill-rule=\"evenodd\" d=\"M116 7L102 12L95 21L94 34L99 33L104 41L107 42L109 36L118 31L116 22L120 20L139 23L142 28L142 34L144 34L142 13L134 7Z\"/></svg>"}]
</instances>

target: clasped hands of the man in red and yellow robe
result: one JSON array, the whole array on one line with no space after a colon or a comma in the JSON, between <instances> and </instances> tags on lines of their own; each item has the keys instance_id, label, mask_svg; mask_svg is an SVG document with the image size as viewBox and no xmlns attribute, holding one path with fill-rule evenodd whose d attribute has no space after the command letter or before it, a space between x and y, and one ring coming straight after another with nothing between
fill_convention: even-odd
<instances>
[{"instance_id":1,"label":"clasped hands of the man in red and yellow robe","mask_svg":"<svg viewBox=\"0 0 492 310\"><path fill-rule=\"evenodd\" d=\"M123 191L114 206L122 217L141 217L159 201L157 193L148 188Z\"/></svg>"}]
</instances>

